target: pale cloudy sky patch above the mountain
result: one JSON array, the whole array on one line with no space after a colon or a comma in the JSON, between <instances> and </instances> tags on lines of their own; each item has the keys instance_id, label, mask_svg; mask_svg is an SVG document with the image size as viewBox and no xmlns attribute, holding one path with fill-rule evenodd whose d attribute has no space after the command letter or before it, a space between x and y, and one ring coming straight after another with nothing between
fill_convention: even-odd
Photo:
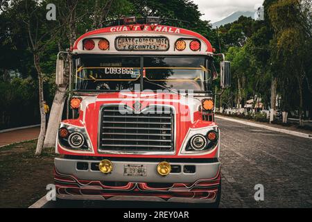
<instances>
[{"instance_id":1,"label":"pale cloudy sky patch above the mountain","mask_svg":"<svg viewBox=\"0 0 312 222\"><path fill-rule=\"evenodd\" d=\"M263 0L193 0L202 12L202 19L210 20L211 23L231 15L236 11L254 11Z\"/></svg>"}]
</instances>

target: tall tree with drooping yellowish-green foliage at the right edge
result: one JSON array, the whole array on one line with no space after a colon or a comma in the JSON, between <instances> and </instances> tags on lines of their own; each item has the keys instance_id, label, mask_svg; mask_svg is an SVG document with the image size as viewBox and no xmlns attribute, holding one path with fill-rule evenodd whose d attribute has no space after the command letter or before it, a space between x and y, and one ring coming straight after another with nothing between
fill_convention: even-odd
<instances>
[{"instance_id":1,"label":"tall tree with drooping yellowish-green foliage at the right edge","mask_svg":"<svg viewBox=\"0 0 312 222\"><path fill-rule=\"evenodd\" d=\"M269 8L268 15L270 22L275 31L277 53L275 59L280 64L283 77L280 79L283 85L284 95L289 94L289 89L293 84L297 84L297 94L299 103L300 126L303 125L302 111L304 105L304 78L306 78L305 63L309 55L311 36L309 28L306 29L308 18L302 15L302 3L300 0L284 0L272 4ZM302 20L303 18L303 20ZM285 98L284 98L285 99ZM291 105L288 105L290 107ZM286 105L284 105L286 108Z\"/></svg>"}]
</instances>

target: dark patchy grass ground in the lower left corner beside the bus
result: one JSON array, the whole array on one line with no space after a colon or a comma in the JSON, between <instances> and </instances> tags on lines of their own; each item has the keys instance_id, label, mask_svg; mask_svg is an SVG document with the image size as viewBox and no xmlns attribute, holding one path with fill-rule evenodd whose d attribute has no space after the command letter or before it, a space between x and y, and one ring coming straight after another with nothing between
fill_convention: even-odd
<instances>
[{"instance_id":1,"label":"dark patchy grass ground in the lower left corner beside the bus","mask_svg":"<svg viewBox=\"0 0 312 222\"><path fill-rule=\"evenodd\" d=\"M0 207L29 207L53 183L54 148L35 156L37 140L0 148Z\"/></svg>"}]
</instances>

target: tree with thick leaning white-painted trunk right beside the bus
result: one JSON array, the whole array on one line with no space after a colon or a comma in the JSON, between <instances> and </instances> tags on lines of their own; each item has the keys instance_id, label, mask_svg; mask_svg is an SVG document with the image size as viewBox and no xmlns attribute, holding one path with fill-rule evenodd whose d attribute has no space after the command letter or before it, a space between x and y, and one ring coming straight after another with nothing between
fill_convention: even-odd
<instances>
[{"instance_id":1,"label":"tree with thick leaning white-painted trunk right beside the bus","mask_svg":"<svg viewBox=\"0 0 312 222\"><path fill-rule=\"evenodd\" d=\"M122 14L125 10L130 10L131 8L128 1L125 0L114 0L114 4L112 2L112 0L55 1L55 5L58 7L58 24L62 27L60 35L58 35L59 51L65 51L69 46L73 46L78 35L83 34L87 29L101 28L107 17L114 18L116 15ZM66 39L64 39L64 36L66 36ZM62 119L62 111L69 87L70 58L64 58L64 60L67 61L65 62L67 66L65 67L64 84L58 85L55 90L49 123L46 129L46 138L44 140L45 148L55 146L55 138Z\"/></svg>"}]
</instances>

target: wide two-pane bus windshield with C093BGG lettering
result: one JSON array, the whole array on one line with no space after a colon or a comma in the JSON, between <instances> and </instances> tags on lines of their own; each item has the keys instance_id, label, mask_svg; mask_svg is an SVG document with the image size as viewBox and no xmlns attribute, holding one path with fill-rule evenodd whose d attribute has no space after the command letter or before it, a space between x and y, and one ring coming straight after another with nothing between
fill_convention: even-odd
<instances>
[{"instance_id":1,"label":"wide two-pane bus windshield with C093BGG lettering","mask_svg":"<svg viewBox=\"0 0 312 222\"><path fill-rule=\"evenodd\" d=\"M120 91L210 89L210 62L204 56L99 56L74 59L76 90ZM139 86L139 87L138 87Z\"/></svg>"}]
</instances>

